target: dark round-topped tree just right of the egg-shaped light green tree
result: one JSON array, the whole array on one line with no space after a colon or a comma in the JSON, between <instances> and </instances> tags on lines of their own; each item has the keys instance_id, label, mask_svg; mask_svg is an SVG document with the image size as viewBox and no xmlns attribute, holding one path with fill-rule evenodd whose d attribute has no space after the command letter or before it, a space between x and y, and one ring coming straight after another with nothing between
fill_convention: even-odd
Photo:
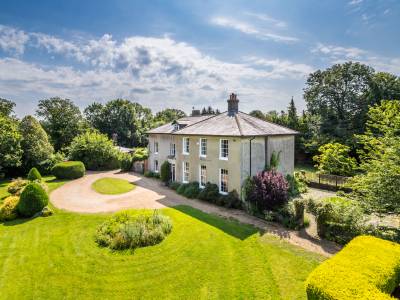
<instances>
[{"instance_id":1,"label":"dark round-topped tree just right of the egg-shaped light green tree","mask_svg":"<svg viewBox=\"0 0 400 300\"><path fill-rule=\"evenodd\" d=\"M59 97L39 101L36 114L56 151L69 146L75 136L82 132L82 114L71 100Z\"/></svg>"}]
</instances>

